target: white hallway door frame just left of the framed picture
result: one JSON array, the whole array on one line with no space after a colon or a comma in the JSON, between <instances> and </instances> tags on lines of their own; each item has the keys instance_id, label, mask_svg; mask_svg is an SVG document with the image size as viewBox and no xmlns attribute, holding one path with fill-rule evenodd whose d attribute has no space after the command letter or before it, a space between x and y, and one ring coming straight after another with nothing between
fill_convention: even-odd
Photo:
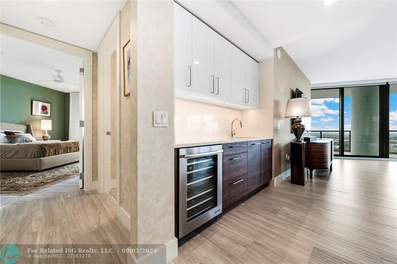
<instances>
[{"instance_id":1,"label":"white hallway door frame just left of the framed picture","mask_svg":"<svg viewBox=\"0 0 397 264\"><path fill-rule=\"evenodd\" d=\"M116 45L116 184L111 181L110 173L110 137L107 138L107 126L104 122L106 112L105 99L106 99L106 83L110 83L110 74L105 74L106 68L110 67L110 60L105 60L109 47ZM97 190L100 193L109 192L114 185L117 187L117 206L119 206L119 145L120 145L120 132L119 132L119 117L120 117L120 12L116 15L109 29L107 30L101 44L98 48L98 186ZM109 108L110 110L110 108ZM107 142L109 140L109 142ZM108 177L109 176L109 177Z\"/></svg>"}]
</instances>

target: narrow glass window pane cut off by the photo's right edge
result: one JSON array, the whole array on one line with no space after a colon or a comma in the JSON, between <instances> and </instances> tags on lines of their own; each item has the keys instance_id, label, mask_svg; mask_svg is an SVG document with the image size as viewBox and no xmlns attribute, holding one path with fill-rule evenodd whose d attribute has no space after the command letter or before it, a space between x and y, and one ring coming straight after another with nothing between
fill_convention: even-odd
<instances>
[{"instance_id":1,"label":"narrow glass window pane cut off by the photo's right edge","mask_svg":"<svg viewBox=\"0 0 397 264\"><path fill-rule=\"evenodd\" d=\"M397 84L390 85L389 157L397 158Z\"/></svg>"}]
</instances>

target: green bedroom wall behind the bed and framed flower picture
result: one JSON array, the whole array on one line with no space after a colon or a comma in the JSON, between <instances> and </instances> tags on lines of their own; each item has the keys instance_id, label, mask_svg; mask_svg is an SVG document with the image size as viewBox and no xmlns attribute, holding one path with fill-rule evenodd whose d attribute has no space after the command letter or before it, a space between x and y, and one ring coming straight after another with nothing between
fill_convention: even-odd
<instances>
[{"instance_id":1,"label":"green bedroom wall behind the bed and framed flower picture","mask_svg":"<svg viewBox=\"0 0 397 264\"><path fill-rule=\"evenodd\" d=\"M51 103L51 117L32 116L32 100ZM52 120L52 130L48 132L51 139L68 139L68 102L68 93L0 75L0 120L32 125L38 140L44 134L40 130L42 119Z\"/></svg>"}]
</instances>

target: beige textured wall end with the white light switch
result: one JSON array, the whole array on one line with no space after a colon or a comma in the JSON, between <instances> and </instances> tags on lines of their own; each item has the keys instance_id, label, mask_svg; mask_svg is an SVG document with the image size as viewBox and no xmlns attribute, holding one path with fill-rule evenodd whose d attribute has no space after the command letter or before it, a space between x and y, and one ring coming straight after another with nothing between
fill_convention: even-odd
<instances>
[{"instance_id":1,"label":"beige textured wall end with the white light switch","mask_svg":"<svg viewBox=\"0 0 397 264\"><path fill-rule=\"evenodd\" d=\"M138 244L175 239L173 10L172 0L137 1ZM167 128L153 128L152 111L168 112Z\"/></svg>"}]
</instances>

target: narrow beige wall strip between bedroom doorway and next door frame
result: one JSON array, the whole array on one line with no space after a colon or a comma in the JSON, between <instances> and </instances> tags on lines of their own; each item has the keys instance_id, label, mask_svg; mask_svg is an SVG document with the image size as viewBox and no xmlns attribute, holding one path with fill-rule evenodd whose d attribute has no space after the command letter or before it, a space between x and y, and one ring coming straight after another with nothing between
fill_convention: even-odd
<instances>
[{"instance_id":1,"label":"narrow beige wall strip between bedroom doorway and next door frame","mask_svg":"<svg viewBox=\"0 0 397 264\"><path fill-rule=\"evenodd\" d=\"M98 181L98 53L92 53L92 181Z\"/></svg>"}]
</instances>

